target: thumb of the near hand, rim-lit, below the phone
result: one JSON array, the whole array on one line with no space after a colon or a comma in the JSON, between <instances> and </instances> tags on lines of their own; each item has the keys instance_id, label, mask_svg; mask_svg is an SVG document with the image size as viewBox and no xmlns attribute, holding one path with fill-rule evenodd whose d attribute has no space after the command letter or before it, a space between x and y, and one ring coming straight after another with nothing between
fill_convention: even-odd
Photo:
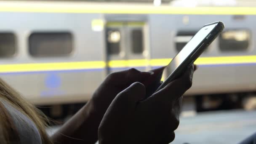
<instances>
[{"instance_id":1,"label":"thumb of the near hand, rim-lit, below the phone","mask_svg":"<svg viewBox=\"0 0 256 144\"><path fill-rule=\"evenodd\" d=\"M118 119L119 117L122 118L124 115L129 115L131 112L134 112L137 102L144 97L144 85L139 82L133 83L117 94L115 99L109 105L104 117Z\"/></svg>"}]
</instances>

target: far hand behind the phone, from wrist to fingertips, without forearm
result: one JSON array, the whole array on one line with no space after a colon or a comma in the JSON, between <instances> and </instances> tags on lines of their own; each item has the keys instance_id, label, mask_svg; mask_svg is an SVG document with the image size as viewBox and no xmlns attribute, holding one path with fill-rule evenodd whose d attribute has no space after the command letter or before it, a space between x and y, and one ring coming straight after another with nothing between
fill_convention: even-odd
<instances>
[{"instance_id":1,"label":"far hand behind the phone, from wrist to fingertips, without forearm","mask_svg":"<svg viewBox=\"0 0 256 144\"><path fill-rule=\"evenodd\" d=\"M143 83L148 89L147 93L151 93L160 85L163 68L151 72L140 72L132 68L108 75L89 101L92 104L91 111L102 118L115 96L135 82Z\"/></svg>"}]
</instances>

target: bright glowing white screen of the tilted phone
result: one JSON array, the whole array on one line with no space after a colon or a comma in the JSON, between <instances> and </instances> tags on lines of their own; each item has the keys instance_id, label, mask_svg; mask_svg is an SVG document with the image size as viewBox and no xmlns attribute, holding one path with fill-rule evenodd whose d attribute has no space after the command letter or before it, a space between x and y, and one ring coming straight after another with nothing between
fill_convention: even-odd
<instances>
[{"instance_id":1,"label":"bright glowing white screen of the tilted phone","mask_svg":"<svg viewBox=\"0 0 256 144\"><path fill-rule=\"evenodd\" d=\"M182 50L173 58L173 60L165 68L165 74L171 75L197 48L198 45L208 36L208 34L216 27L217 24L202 27L194 37L182 48Z\"/></svg>"}]
</instances>

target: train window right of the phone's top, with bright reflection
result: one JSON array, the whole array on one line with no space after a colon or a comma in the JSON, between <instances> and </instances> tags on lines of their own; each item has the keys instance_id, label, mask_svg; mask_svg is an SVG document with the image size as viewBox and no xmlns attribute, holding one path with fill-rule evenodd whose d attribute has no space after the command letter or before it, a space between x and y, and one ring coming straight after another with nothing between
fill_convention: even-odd
<instances>
[{"instance_id":1,"label":"train window right of the phone's top, with bright reflection","mask_svg":"<svg viewBox=\"0 0 256 144\"><path fill-rule=\"evenodd\" d=\"M221 51L245 51L248 49L251 35L248 30L227 30L219 37Z\"/></svg>"}]
</instances>

